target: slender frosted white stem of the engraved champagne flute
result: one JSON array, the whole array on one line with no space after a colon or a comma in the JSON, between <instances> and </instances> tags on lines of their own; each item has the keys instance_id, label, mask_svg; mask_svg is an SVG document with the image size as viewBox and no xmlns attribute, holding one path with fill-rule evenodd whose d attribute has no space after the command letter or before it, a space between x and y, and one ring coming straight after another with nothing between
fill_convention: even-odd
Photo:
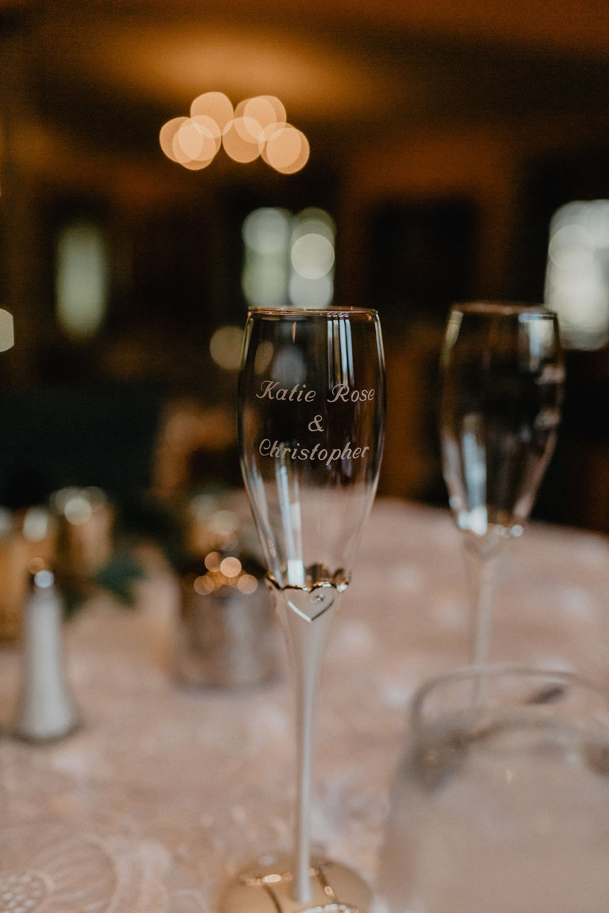
<instances>
[{"instance_id":1,"label":"slender frosted white stem of the engraved champagne flute","mask_svg":"<svg viewBox=\"0 0 609 913\"><path fill-rule=\"evenodd\" d=\"M292 591L293 592L293 591ZM301 596L302 591L297 591ZM288 590L275 590L279 618L288 644L291 677L296 704L298 752L298 795L295 816L294 899L308 904L310 889L310 792L313 761L313 727L321 663L332 617L340 593L321 614L310 618L291 603ZM315 597L311 596L311 601ZM314 603L313 603L314 604Z\"/></svg>"}]
</instances>

